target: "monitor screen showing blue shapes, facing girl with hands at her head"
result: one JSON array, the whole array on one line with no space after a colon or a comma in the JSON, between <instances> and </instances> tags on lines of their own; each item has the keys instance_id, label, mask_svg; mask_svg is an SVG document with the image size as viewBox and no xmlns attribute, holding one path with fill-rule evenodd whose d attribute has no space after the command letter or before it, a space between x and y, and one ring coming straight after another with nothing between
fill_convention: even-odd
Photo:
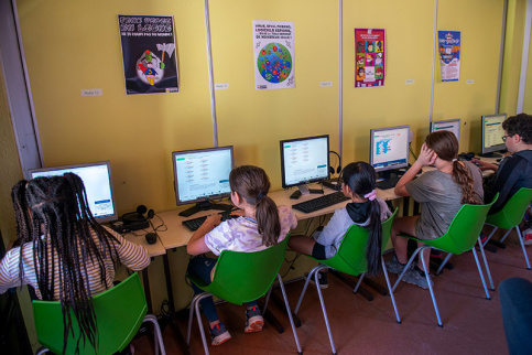
<instances>
[{"instance_id":1,"label":"monitor screen showing blue shapes, facing girl with hands at her head","mask_svg":"<svg viewBox=\"0 0 532 355\"><path fill-rule=\"evenodd\" d=\"M409 166L410 126L371 130L370 164L376 171Z\"/></svg>"}]
</instances>

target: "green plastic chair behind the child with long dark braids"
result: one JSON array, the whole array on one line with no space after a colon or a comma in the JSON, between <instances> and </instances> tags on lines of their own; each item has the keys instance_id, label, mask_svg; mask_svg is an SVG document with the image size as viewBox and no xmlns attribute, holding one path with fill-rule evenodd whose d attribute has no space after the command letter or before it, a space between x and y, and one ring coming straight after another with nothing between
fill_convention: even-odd
<instances>
[{"instance_id":1,"label":"green plastic chair behind the child with long dark braids","mask_svg":"<svg viewBox=\"0 0 532 355\"><path fill-rule=\"evenodd\" d=\"M63 312L59 301L33 301L33 318L41 347L37 354L51 351L55 354L63 352ZM115 354L122 351L131 342L143 322L153 323L155 354L165 355L161 329L152 314L146 314L148 305L144 291L135 272L129 278L93 297L98 325L98 348L90 343L79 342L79 354ZM74 335L68 337L66 354L74 354L79 326L72 314Z\"/></svg>"}]
</instances>

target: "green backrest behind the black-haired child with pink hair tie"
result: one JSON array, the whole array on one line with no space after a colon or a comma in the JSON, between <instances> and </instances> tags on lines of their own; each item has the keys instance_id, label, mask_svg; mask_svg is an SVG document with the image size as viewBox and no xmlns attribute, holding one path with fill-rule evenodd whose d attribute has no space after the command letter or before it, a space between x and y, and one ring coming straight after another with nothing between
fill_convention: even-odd
<instances>
[{"instance_id":1,"label":"green backrest behind the black-haired child with pink hair tie","mask_svg":"<svg viewBox=\"0 0 532 355\"><path fill-rule=\"evenodd\" d=\"M382 222L382 252L390 239L393 218L397 213L398 208L388 219ZM368 239L369 232L366 227L352 225L347 229L335 256L330 259L318 261L348 275L357 276L363 273L368 270L366 261Z\"/></svg>"}]
</instances>

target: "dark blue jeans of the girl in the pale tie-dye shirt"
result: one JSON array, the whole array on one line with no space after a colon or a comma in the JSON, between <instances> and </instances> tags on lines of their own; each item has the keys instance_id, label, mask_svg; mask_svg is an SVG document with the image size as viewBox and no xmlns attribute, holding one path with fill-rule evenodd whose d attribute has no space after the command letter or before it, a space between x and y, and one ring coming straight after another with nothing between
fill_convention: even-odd
<instances>
[{"instance_id":1,"label":"dark blue jeans of the girl in the pale tie-dye shirt","mask_svg":"<svg viewBox=\"0 0 532 355\"><path fill-rule=\"evenodd\" d=\"M210 272L213 268L216 266L216 259L207 258L205 256L197 256L191 259L188 262L188 268L187 272L188 275L194 275L202 279L207 284L210 284ZM192 283L192 288L194 290L195 294L199 294L205 292L200 288ZM207 321L209 323L213 323L215 321L218 321L218 313L216 313L216 308L215 308L215 302L213 301L211 297L207 297L199 301L199 304L202 305L202 310L207 318ZM248 302L248 306L254 306L257 305L257 301Z\"/></svg>"}]
</instances>

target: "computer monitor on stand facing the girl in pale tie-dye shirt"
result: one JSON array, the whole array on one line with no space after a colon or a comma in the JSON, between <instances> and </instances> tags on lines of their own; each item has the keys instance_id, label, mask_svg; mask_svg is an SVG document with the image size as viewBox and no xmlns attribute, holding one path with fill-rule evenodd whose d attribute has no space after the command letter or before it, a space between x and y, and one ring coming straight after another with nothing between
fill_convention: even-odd
<instances>
[{"instance_id":1,"label":"computer monitor on stand facing the girl in pale tie-dye shirt","mask_svg":"<svg viewBox=\"0 0 532 355\"><path fill-rule=\"evenodd\" d=\"M214 204L211 198L229 196L229 173L234 168L232 146L185 150L172 153L177 205L196 203L180 213L192 216L203 209L230 211L231 205Z\"/></svg>"}]
</instances>

